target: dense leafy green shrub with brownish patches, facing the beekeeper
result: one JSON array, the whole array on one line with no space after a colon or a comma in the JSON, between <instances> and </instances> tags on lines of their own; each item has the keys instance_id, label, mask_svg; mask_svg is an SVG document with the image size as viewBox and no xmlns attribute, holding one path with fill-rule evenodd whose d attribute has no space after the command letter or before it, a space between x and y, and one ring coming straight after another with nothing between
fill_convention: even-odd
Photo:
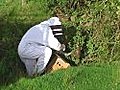
<instances>
[{"instance_id":1,"label":"dense leafy green shrub with brownish patches, facing the beekeeper","mask_svg":"<svg viewBox=\"0 0 120 90\"><path fill-rule=\"evenodd\" d=\"M71 37L69 49L75 51L77 47L81 48L80 58L71 55L70 60L84 64L111 62L111 55L119 57L115 54L119 53L116 48L120 44L119 39L116 39L119 37L119 5L117 0L57 1L57 7L64 15L67 14L71 23L64 22L67 29L65 35ZM71 32L68 26L73 26L75 32Z\"/></svg>"}]
</instances>

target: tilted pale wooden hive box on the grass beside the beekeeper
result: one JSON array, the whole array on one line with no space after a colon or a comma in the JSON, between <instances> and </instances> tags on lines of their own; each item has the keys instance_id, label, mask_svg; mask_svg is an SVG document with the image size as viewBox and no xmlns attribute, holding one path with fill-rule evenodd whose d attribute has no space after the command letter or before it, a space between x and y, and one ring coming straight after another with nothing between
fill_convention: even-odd
<instances>
[{"instance_id":1,"label":"tilted pale wooden hive box on the grass beside the beekeeper","mask_svg":"<svg viewBox=\"0 0 120 90\"><path fill-rule=\"evenodd\" d=\"M70 64L61 58L59 55L55 55L55 57L49 62L48 66L46 67L45 72L53 72L59 69L66 69L70 67Z\"/></svg>"}]
</instances>

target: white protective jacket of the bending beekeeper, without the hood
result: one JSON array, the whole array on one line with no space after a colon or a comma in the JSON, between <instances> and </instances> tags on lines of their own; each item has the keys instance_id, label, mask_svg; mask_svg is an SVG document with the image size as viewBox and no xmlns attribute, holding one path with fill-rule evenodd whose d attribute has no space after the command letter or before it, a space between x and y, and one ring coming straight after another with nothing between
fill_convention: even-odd
<instances>
[{"instance_id":1,"label":"white protective jacket of the bending beekeeper, without the hood","mask_svg":"<svg viewBox=\"0 0 120 90\"><path fill-rule=\"evenodd\" d=\"M54 50L59 51L61 44L54 37L51 28L48 26L47 21L44 21L34 27L30 28L26 34L23 36L18 51L22 52L21 48L24 48L26 44L32 43L36 47L40 47L41 45L50 47Z\"/></svg>"}]
</instances>

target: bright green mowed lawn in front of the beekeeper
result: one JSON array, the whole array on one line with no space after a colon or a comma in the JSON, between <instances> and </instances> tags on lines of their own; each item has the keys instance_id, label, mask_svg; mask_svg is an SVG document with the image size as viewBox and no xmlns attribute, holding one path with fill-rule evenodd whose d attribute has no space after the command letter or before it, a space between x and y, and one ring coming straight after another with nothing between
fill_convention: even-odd
<instances>
[{"instance_id":1,"label":"bright green mowed lawn in front of the beekeeper","mask_svg":"<svg viewBox=\"0 0 120 90\"><path fill-rule=\"evenodd\" d=\"M35 78L21 78L1 90L120 90L119 62L70 67Z\"/></svg>"}]
</instances>

